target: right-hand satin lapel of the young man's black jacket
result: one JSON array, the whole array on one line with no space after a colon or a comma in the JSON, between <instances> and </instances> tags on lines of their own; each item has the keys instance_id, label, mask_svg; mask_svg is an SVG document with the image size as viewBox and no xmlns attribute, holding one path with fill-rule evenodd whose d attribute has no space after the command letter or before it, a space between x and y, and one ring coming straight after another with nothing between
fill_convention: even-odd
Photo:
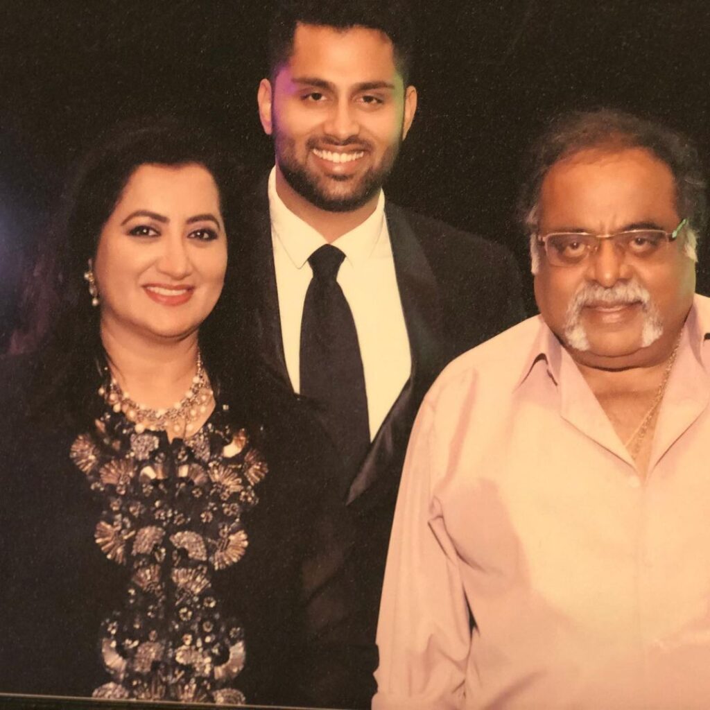
<instances>
[{"instance_id":1,"label":"right-hand satin lapel of the young man's black jacket","mask_svg":"<svg viewBox=\"0 0 710 710\"><path fill-rule=\"evenodd\" d=\"M353 480L347 503L353 503L404 457L409 430L427 388L444 365L444 324L437 282L405 214L386 209L397 285L412 356L412 372L382 423Z\"/></svg>"}]
</instances>

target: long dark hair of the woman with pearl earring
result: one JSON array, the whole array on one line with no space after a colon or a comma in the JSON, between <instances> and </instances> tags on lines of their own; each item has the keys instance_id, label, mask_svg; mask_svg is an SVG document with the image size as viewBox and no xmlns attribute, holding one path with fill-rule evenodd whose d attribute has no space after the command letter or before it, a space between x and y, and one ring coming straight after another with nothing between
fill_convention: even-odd
<instances>
[{"instance_id":1,"label":"long dark hair of the woman with pearl earring","mask_svg":"<svg viewBox=\"0 0 710 710\"><path fill-rule=\"evenodd\" d=\"M33 417L60 417L87 425L101 406L96 389L106 354L99 334L99 309L92 307L84 280L87 261L121 192L140 165L203 165L220 192L229 238L229 190L234 166L214 150L214 141L172 119L124 124L91 148L72 172L59 217L40 246L23 291L23 317L13 334L13 351L31 352L33 378L28 408ZM231 248L230 248L231 249ZM213 386L231 391L237 354L225 333L234 332L234 304L228 260L222 295L200 327L200 349Z\"/></svg>"}]
</instances>

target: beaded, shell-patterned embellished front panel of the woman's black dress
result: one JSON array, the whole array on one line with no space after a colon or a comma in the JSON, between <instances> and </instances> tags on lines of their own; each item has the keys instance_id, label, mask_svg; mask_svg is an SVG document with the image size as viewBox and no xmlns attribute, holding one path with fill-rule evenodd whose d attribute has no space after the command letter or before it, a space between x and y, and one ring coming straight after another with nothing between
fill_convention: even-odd
<instances>
[{"instance_id":1,"label":"beaded, shell-patterned embellished front panel of the woman's black dress","mask_svg":"<svg viewBox=\"0 0 710 710\"><path fill-rule=\"evenodd\" d=\"M243 515L267 470L249 436L222 408L173 442L109 408L71 458L100 501L97 545L129 573L121 607L102 624L109 679L94 697L244 703L247 639L223 616L213 580L249 544Z\"/></svg>"}]
</instances>

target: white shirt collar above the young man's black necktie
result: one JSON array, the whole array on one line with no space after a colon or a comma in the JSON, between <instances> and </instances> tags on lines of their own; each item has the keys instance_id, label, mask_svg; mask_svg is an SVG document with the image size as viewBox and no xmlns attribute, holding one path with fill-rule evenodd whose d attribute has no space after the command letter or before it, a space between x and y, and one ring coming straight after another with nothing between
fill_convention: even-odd
<instances>
[{"instance_id":1,"label":"white shirt collar above the young man's black necktie","mask_svg":"<svg viewBox=\"0 0 710 710\"><path fill-rule=\"evenodd\" d=\"M276 168L268 178L269 212L271 229L296 268L302 268L310 255L328 242L317 230L291 212L276 192ZM353 266L359 266L373 253L383 231L385 221L385 195L380 190L375 211L355 229L351 229L333 242Z\"/></svg>"}]
</instances>

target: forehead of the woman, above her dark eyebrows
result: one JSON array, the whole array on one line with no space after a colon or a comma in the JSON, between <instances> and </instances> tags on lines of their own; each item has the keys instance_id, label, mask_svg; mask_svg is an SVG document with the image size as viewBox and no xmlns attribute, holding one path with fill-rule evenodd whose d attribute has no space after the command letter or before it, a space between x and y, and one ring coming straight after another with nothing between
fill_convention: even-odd
<instances>
[{"instance_id":1,"label":"forehead of the woman, above her dark eyebrows","mask_svg":"<svg viewBox=\"0 0 710 710\"><path fill-rule=\"evenodd\" d=\"M135 202L150 204L153 209L161 204L180 204L187 209L195 203L219 202L219 192L212 173L203 165L145 163L131 173L118 207Z\"/></svg>"}]
</instances>

